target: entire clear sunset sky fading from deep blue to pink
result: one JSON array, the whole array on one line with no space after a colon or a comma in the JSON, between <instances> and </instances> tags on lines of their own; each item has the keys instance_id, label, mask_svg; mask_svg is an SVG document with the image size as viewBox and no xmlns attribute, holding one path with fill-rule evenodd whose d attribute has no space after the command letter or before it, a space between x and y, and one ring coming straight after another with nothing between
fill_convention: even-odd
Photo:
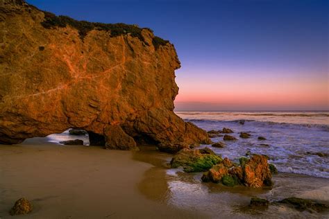
<instances>
[{"instance_id":1,"label":"entire clear sunset sky fading from deep blue to pink","mask_svg":"<svg viewBox=\"0 0 329 219\"><path fill-rule=\"evenodd\" d=\"M138 24L176 47L176 111L329 110L329 1L28 0Z\"/></svg>"}]
</instances>

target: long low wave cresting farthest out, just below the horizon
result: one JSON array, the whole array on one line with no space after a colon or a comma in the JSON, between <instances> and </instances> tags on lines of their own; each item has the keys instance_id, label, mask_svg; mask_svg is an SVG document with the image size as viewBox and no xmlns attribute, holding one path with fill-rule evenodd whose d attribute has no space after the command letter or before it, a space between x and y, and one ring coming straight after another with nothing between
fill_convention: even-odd
<instances>
[{"instance_id":1,"label":"long low wave cresting farthest out, just below the horizon","mask_svg":"<svg viewBox=\"0 0 329 219\"><path fill-rule=\"evenodd\" d=\"M195 122L195 123L244 123L257 126L269 126L269 127L278 127L278 128L317 128L321 131L329 132L329 125L323 124L296 124L296 123L278 123L273 121L257 121L252 119L239 119L232 121L223 121L223 120L214 120L214 119L185 119L185 121Z\"/></svg>"}]
</instances>

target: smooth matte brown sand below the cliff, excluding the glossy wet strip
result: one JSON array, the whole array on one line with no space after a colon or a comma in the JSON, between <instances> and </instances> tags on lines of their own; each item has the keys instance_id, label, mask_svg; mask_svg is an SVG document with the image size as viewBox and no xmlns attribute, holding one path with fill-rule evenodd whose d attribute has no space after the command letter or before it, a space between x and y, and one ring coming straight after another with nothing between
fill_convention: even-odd
<instances>
[{"instance_id":1,"label":"smooth matte brown sand below the cliff, excluding the glossy wet strip","mask_svg":"<svg viewBox=\"0 0 329 219\"><path fill-rule=\"evenodd\" d=\"M44 138L0 147L0 218L205 218L143 195L138 185L153 166L133 152L58 146ZM157 191L157 182L150 192ZM33 212L10 216L19 198Z\"/></svg>"}]
</instances>

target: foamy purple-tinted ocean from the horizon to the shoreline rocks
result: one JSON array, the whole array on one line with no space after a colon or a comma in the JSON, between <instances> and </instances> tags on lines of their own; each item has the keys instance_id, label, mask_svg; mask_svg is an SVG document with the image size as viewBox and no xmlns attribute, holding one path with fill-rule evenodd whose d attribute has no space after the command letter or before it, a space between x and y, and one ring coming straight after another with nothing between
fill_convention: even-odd
<instances>
[{"instance_id":1,"label":"foamy purple-tinted ocean from the horizon to the shoreline rocks","mask_svg":"<svg viewBox=\"0 0 329 219\"><path fill-rule=\"evenodd\" d=\"M329 112L176 114L207 131L232 129L237 141L226 141L225 148L210 146L222 157L237 159L246 153L267 155L279 172L329 178ZM248 132L251 138L241 139L239 132ZM267 140L258 140L260 136ZM212 139L214 142L222 140L222 137Z\"/></svg>"}]
</instances>

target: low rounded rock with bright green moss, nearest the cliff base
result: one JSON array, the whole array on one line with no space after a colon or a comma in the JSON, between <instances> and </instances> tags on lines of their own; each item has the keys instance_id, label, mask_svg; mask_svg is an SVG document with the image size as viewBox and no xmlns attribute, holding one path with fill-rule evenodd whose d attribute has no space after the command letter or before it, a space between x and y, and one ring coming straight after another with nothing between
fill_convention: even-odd
<instances>
[{"instance_id":1,"label":"low rounded rock with bright green moss, nearest the cliff base","mask_svg":"<svg viewBox=\"0 0 329 219\"><path fill-rule=\"evenodd\" d=\"M209 148L208 148L209 149ZM210 150L210 149L209 149ZM208 151L209 152L209 151ZM180 150L171 159L171 168L182 166L185 172L203 172L209 170L221 161L221 157L214 154L202 154L200 150Z\"/></svg>"}]
</instances>

